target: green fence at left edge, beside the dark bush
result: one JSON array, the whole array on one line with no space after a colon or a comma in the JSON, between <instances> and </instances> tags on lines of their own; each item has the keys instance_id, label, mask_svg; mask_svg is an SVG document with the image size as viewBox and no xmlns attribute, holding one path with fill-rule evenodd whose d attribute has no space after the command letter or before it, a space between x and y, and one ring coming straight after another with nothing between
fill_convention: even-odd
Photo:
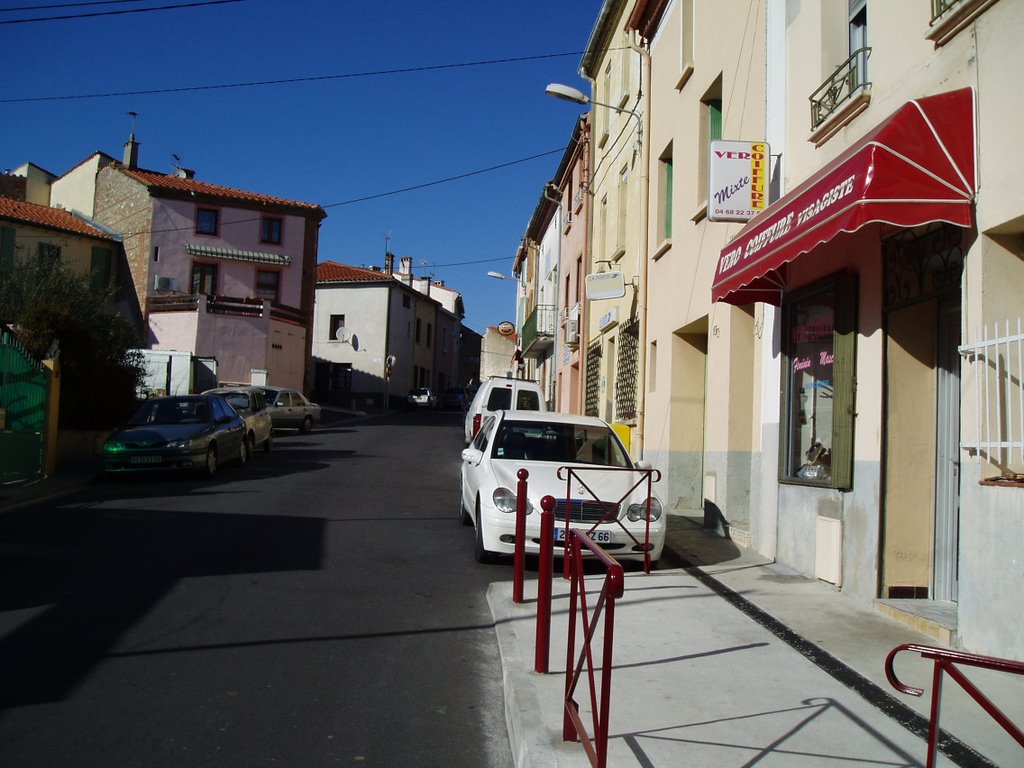
<instances>
[{"instance_id":1,"label":"green fence at left edge, beside the dark bush","mask_svg":"<svg viewBox=\"0 0 1024 768\"><path fill-rule=\"evenodd\" d=\"M0 330L0 482L42 474L47 392L46 368Z\"/></svg>"}]
</instances>

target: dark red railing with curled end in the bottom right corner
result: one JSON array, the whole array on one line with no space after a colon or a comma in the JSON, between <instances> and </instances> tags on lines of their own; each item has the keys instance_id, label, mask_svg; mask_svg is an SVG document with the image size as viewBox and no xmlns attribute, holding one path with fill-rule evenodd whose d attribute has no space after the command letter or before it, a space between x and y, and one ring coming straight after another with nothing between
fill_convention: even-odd
<instances>
[{"instance_id":1,"label":"dark red railing with curled end in the bottom right corner","mask_svg":"<svg viewBox=\"0 0 1024 768\"><path fill-rule=\"evenodd\" d=\"M913 653L921 653L923 658L930 658L935 663L932 673L932 711L928 723L928 768L934 768L936 750L939 740L939 708L941 705L942 676L949 675L959 683L959 686L970 694L971 698L977 701L992 720L998 723L1002 729L1009 733L1017 743L1024 746L1024 731L1014 725L1002 711L996 707L978 687L972 683L967 676L957 669L956 665L965 667L977 667L983 670L996 670L998 672L1009 672L1012 675L1024 675L1024 663L1011 662L1006 658L995 658L994 656L979 656L975 653L964 653L957 650L946 648L934 648L930 645L916 645L914 643L904 643L897 645L886 657L886 677L889 684L900 693L907 693L911 696L920 696L925 691L910 685L901 683L893 670L893 660L896 654L908 650Z\"/></svg>"}]
</instances>

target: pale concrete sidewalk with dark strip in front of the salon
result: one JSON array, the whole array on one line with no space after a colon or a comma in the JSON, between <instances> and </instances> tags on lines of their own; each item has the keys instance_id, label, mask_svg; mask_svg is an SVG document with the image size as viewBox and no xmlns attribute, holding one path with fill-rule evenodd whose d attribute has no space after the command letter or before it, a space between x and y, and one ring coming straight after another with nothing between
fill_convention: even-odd
<instances>
[{"instance_id":1,"label":"pale concrete sidewalk with dark strip in front of the salon","mask_svg":"<svg viewBox=\"0 0 1024 768\"><path fill-rule=\"evenodd\" d=\"M673 558L685 567L666 567ZM901 643L937 643L687 518L670 518L662 568L628 572L616 604L609 766L926 764L932 665L897 658L921 698L893 689L884 665ZM520 767L589 765L581 744L561 738L568 583L556 570L548 675L534 672L536 571L522 604L510 582L487 594ZM601 579L588 579L591 604ZM1024 723L1024 678L965 671ZM593 733L586 680L573 698ZM1024 765L1024 749L948 679L941 723L951 737L938 765Z\"/></svg>"}]
</instances>

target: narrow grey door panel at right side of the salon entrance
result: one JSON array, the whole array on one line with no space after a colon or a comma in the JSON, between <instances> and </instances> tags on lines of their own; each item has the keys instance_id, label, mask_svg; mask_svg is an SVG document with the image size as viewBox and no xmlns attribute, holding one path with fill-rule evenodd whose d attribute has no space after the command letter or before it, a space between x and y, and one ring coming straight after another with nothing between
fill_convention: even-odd
<instances>
[{"instance_id":1,"label":"narrow grey door panel at right side of the salon entrance","mask_svg":"<svg viewBox=\"0 0 1024 768\"><path fill-rule=\"evenodd\" d=\"M959 301L940 306L936 355L935 542L932 599L956 601L959 540Z\"/></svg>"}]
</instances>

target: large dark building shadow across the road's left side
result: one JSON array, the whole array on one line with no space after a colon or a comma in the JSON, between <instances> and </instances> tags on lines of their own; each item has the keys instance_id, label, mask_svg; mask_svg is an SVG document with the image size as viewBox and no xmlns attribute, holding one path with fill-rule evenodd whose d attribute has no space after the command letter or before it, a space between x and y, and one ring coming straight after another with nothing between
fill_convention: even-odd
<instances>
[{"instance_id":1,"label":"large dark building shadow across the road's left side","mask_svg":"<svg viewBox=\"0 0 1024 768\"><path fill-rule=\"evenodd\" d=\"M178 580L321 567L325 524L131 509L0 517L0 613L38 611L0 625L0 709L59 700Z\"/></svg>"}]
</instances>

